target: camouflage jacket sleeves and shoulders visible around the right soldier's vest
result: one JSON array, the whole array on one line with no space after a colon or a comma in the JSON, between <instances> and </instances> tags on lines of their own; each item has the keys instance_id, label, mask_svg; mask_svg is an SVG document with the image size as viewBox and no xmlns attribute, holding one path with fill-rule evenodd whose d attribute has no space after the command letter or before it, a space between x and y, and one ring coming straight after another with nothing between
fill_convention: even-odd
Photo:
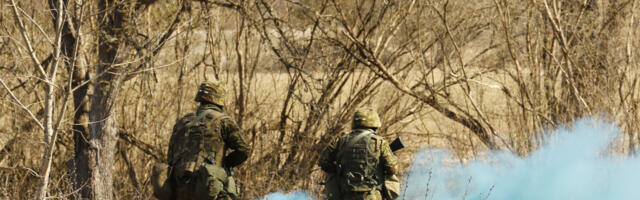
<instances>
[{"instance_id":1,"label":"camouflage jacket sleeves and shoulders visible around the right soldier's vest","mask_svg":"<svg viewBox=\"0 0 640 200\"><path fill-rule=\"evenodd\" d=\"M353 131L355 132L355 130ZM353 134L353 132L351 134ZM320 154L320 159L318 165L322 168L323 171L327 173L335 173L337 171L336 160L338 159L336 156L339 151L340 144L346 142L346 135L340 136L337 139L333 140L329 146ZM377 136L380 137L380 136ZM380 137L382 138L382 137ZM380 154L380 164L379 166L383 167L386 176L392 176L396 174L398 168L398 160L396 156L391 151L389 147L389 142L383 138L382 140L382 149Z\"/></svg>"}]
</instances>

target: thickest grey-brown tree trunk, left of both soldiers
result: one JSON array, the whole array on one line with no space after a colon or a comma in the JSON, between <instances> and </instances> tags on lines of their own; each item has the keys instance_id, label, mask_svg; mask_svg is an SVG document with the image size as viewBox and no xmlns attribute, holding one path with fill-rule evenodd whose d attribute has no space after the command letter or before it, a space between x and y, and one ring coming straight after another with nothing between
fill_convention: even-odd
<instances>
[{"instance_id":1,"label":"thickest grey-brown tree trunk, left of both soldiers","mask_svg":"<svg viewBox=\"0 0 640 200\"><path fill-rule=\"evenodd\" d=\"M113 166L115 164L117 121L115 101L123 82L124 57L119 51L124 45L120 38L124 24L123 9L110 0L101 0L98 8L105 19L98 38L99 64L97 77L91 84L93 92L88 97L88 88L83 86L74 93L78 112L75 116L74 143L76 145L76 188L82 187L81 198L113 199ZM86 70L86 69L85 69ZM76 80L88 80L86 71L78 70ZM79 82L77 82L79 83ZM90 102L90 107L87 102ZM88 111L88 112L87 112ZM88 128L85 120L89 119ZM88 134L87 134L88 129Z\"/></svg>"}]
</instances>

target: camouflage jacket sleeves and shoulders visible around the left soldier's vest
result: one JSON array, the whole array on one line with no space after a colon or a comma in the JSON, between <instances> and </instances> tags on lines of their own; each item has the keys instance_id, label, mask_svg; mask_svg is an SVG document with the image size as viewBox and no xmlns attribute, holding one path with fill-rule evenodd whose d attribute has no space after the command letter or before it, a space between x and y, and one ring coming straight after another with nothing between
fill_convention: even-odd
<instances>
[{"instance_id":1,"label":"camouflage jacket sleeves and shoulders visible around the left soldier's vest","mask_svg":"<svg viewBox=\"0 0 640 200\"><path fill-rule=\"evenodd\" d=\"M180 126L181 124L184 124L184 121L186 118L189 118L190 116L198 115L205 110L214 110L217 112L222 112L221 107L217 105L202 104L200 105L200 107L198 107L196 113L187 114L176 122L176 125L173 127L174 129L173 134L169 139L169 152L167 154L168 156L167 161L169 165L173 165L175 160L178 159L178 158L174 158L175 152L178 152L182 148L193 148L193 147L183 147L183 146L177 145L177 143L179 143L177 141L188 139L188 138L183 138L182 136L176 134L177 127ZM223 160L224 166L235 167L237 165L242 164L249 157L250 148L242 138L242 133L240 128L231 118L228 118L228 117L221 119L220 126L221 126L219 131L220 133L209 133L209 134L222 134L222 139L224 141L224 149L234 150L224 158ZM214 131L214 130L209 130L209 131Z\"/></svg>"}]
</instances>

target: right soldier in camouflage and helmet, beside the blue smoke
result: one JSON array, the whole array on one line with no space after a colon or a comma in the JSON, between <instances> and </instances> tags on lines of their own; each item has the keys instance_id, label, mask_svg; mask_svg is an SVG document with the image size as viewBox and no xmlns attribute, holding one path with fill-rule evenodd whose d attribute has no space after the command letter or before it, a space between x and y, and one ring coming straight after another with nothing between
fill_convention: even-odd
<instances>
[{"instance_id":1,"label":"right soldier in camouflage and helmet, beside the blue smoke","mask_svg":"<svg viewBox=\"0 0 640 200\"><path fill-rule=\"evenodd\" d=\"M375 131L380 118L372 109L361 109L353 116L352 132L331 142L320 155L319 165L327 172L327 199L393 199L385 189L395 176L397 159L389 143ZM395 191L397 192L397 191Z\"/></svg>"}]
</instances>

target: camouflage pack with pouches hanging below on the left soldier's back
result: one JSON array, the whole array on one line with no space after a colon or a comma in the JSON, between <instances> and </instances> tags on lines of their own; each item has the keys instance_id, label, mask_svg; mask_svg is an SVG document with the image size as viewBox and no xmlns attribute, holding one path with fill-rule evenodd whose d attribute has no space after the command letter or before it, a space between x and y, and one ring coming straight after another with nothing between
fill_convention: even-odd
<instances>
[{"instance_id":1,"label":"camouflage pack with pouches hanging below on the left soldier's back","mask_svg":"<svg viewBox=\"0 0 640 200\"><path fill-rule=\"evenodd\" d=\"M204 110L198 115L186 115L173 129L168 154L171 174L178 178L191 176L197 193L205 195L202 198L237 195L233 177L222 167L224 140L219 133L225 118L229 116Z\"/></svg>"}]
</instances>

